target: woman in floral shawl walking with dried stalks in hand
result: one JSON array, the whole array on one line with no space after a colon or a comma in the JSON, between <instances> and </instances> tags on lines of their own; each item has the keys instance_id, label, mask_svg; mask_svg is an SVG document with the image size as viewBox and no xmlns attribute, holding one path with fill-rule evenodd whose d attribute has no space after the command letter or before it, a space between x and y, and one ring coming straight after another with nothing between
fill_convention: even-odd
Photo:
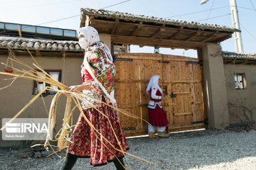
<instances>
[{"instance_id":1,"label":"woman in floral shawl walking with dried stalks in hand","mask_svg":"<svg viewBox=\"0 0 256 170\"><path fill-rule=\"evenodd\" d=\"M88 26L77 31L80 47L85 49L81 69L82 84L70 86L70 91L82 91L87 96L117 107L114 99L115 70L109 48L100 41L95 28ZM101 135L90 128L81 113L71 136L72 142L68 147L63 170L72 169L78 157L90 157L93 166L101 166L113 161L117 169L124 169L122 160L124 154L116 149L121 150L121 146L125 152L129 146L124 137L118 112L99 101L84 98L81 106L83 114ZM102 113L110 119L110 122ZM117 139L111 127L114 128Z\"/></svg>"}]
</instances>

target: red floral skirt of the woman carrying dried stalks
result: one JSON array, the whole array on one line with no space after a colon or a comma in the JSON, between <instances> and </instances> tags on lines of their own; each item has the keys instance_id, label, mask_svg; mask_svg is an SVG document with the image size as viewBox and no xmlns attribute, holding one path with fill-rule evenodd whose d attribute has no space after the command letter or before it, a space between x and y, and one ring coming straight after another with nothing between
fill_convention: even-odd
<instances>
[{"instance_id":1,"label":"red floral skirt of the woman carrying dried stalks","mask_svg":"<svg viewBox=\"0 0 256 170\"><path fill-rule=\"evenodd\" d=\"M120 149L117 140L119 140L124 152L129 149L118 112L104 104L97 107L97 109L104 113L107 118L110 119L110 122L95 108L88 108L84 110L83 113L102 136L97 133L96 130L90 128L82 114L80 114L78 118L78 123L80 124L75 126L73 134L71 135L71 141L73 143L70 142L68 147L68 153L70 154L75 154L80 157L90 157L90 162L94 166L107 164L107 162L111 162L116 157L124 156L122 152L116 150ZM114 136L111 125L117 138ZM114 155L116 157L114 157Z\"/></svg>"}]
</instances>

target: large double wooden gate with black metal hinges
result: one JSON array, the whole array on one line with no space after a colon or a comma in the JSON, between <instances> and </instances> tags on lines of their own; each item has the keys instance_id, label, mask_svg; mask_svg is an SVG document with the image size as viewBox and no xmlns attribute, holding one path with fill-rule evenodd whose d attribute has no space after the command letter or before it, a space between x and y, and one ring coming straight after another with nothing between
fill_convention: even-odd
<instances>
[{"instance_id":1,"label":"large double wooden gate with black metal hinges","mask_svg":"<svg viewBox=\"0 0 256 170\"><path fill-rule=\"evenodd\" d=\"M147 134L149 79L158 74L164 91L162 101L169 120L168 130L206 128L202 68L198 59L176 55L128 53L115 55L117 106L137 115L119 114L126 136ZM140 119L142 118L142 119Z\"/></svg>"}]
</instances>

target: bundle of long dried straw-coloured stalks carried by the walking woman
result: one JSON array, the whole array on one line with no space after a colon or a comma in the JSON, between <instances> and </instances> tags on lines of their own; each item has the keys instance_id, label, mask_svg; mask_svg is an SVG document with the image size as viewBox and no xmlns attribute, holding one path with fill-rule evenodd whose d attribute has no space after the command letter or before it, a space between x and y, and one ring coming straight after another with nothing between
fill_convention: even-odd
<instances>
[{"instance_id":1,"label":"bundle of long dried straw-coloured stalks carried by the walking woman","mask_svg":"<svg viewBox=\"0 0 256 170\"><path fill-rule=\"evenodd\" d=\"M12 60L14 60L14 59L12 59ZM16 68L14 68L14 69L16 69L17 72L21 72L22 74L18 74L18 73L17 73L17 74L12 74L12 73L6 73L6 72L0 72L0 74L5 74L5 75L9 75L9 76L16 77L16 78L14 79L14 81L15 81L18 77L25 78L25 79L33 79L33 80L35 80L35 81L43 81L43 82L46 82L47 84L51 84L51 85L53 85L53 86L57 86L60 90L58 90L58 89L53 89L53 88L51 88L51 87L46 87L45 89L43 89L43 91L41 91L41 92L38 93L35 97L33 97L33 98L31 99L31 101L29 101L29 102L26 104L26 106L24 106L24 108L21 109L21 111L19 111L19 112L14 116L14 118L12 118L12 119L9 121L9 123L11 123L15 118L18 117L18 115L20 115L23 111L25 111L26 108L28 108L28 106L30 106L30 105L33 103L33 101L35 101L39 96L41 96L41 94L43 94L44 91L46 91L46 90L56 91L57 94L55 94L55 96L54 96L54 98L53 98L53 101L51 102L50 111L49 111L49 115L48 115L48 135L47 135L47 137L46 137L46 142L45 142L45 145L44 145L46 148L47 148L48 146L50 146L50 147L58 147L58 151L56 151L56 152L61 152L62 149L65 149L66 147L68 147L68 142L70 142L70 137L69 137L69 131L68 131L68 130L71 128L71 127L69 126L70 117L71 117L73 111L75 110L75 108L78 108L78 109L80 110L80 113L82 113L83 118L85 118L85 121L87 122L87 124L90 125L90 128L92 128L92 130L94 130L97 134L100 135L100 137L102 137L107 143L109 143L110 146L111 146L113 149L117 150L118 152L122 152L122 153L124 154L124 157L125 157L125 154L127 154L127 155L130 155L130 156L135 157L135 158L137 158L137 159L141 159L141 160L143 160L143 161L145 161L145 162L148 162L148 161L146 161L145 159L136 157L136 156L134 156L134 155L132 155L132 154L129 154L129 153L123 151L123 149L122 149L122 147L121 147L121 145L120 145L120 143L119 143L119 140L118 140L118 138L117 138L117 135L115 134L114 129L112 128L112 124L110 123L109 118L107 118L107 116L106 116L104 113L100 112L100 111L97 109L97 111L98 111L100 114L104 115L104 116L107 118L107 120L109 121L109 123L110 123L110 125L111 125L111 128L112 128L113 133L114 133L114 137L116 138L116 140L117 140L117 142L118 142L118 144L119 144L120 149L114 148L114 146L111 144L111 142L109 142L105 137L103 137L102 134L100 134L100 132L98 132L97 129L94 127L94 125L92 125L92 123L90 123L90 120L88 120L88 119L86 118L86 116L84 115L84 113L83 113L83 111L82 111L82 107L80 106L80 101L82 101L83 98L90 98L90 99L95 100L95 101L97 101L97 102L103 103L103 104L105 104L106 106L110 106L111 108L115 109L116 111L119 111L119 113L123 113L124 115L128 115L128 116L130 116L130 117L132 117L132 118L137 118L137 119L138 119L139 117L138 117L137 115L132 115L132 113L128 113L127 111L123 111L122 109L116 108L116 107L114 107L114 106L112 106L112 105L110 105L110 104L108 104L108 103L104 103L104 102L102 102L102 101L97 100L96 98L92 98L92 97L87 96L87 95L85 95L85 94L82 94L82 93L80 93L80 92L78 92L78 93L77 93L77 92L70 92L70 91L69 91L70 89L69 89L68 86L65 86L64 84L61 84L59 81L56 81L55 79L53 79L52 77L50 77L50 75L48 75L43 69L41 69L40 67L38 67L36 64L33 64L33 66L36 67L36 68L38 68L41 72L43 72L43 73L46 74L46 75L41 74L41 72L38 72L36 69L32 69L31 67L29 67L27 64L21 62L20 60L16 60L16 59L15 59L14 62L16 62L16 63L18 63L18 64L21 64L22 66L25 66L25 67L27 67L27 68L29 68L29 69L31 69L31 70L26 71L26 70L24 70L24 69L21 70L21 69L16 69ZM2 63L2 64L3 64L3 63ZM25 74L26 74L26 76L25 76ZM41 78L41 77L43 77L43 78ZM66 108L65 108L65 115L64 115L64 118L63 118L63 127L60 129L60 131L58 132L58 134L55 136L56 140L58 140L58 146L53 146L53 145L50 145L50 142L49 142L49 140L53 140L53 139L50 138L50 132L53 131L53 128L54 128L54 126L55 126L55 112L56 112L56 107L57 107L57 103L58 103L58 98L59 98L60 94L64 94L64 93L65 93L65 94L70 94L70 96L72 96L73 101L75 102L75 105L76 105L76 106L75 106L75 108L73 108L73 111L70 112L71 97L68 97L67 103L66 103ZM141 118L139 118L139 119L141 119ZM144 120L144 121L146 121L146 120ZM146 121L146 123L148 123L148 122ZM74 126L75 126L75 125L74 125ZM6 128L6 125L4 125L4 127L1 128L1 130L4 130L4 128ZM96 137L98 137L98 136L96 135ZM100 138L99 138L99 140L100 140ZM105 145L105 142L103 142L102 140L100 140L100 141L102 142L103 145ZM34 145L34 146L36 146L36 145ZM108 148L106 145L105 145L105 147L106 147L107 149L110 149L110 148ZM110 151L111 151L111 149L110 149ZM54 152L54 153L56 153L56 152ZM111 151L111 152L112 152L112 151ZM149 163L154 164L153 162L149 162ZM129 163L128 163L128 164L129 164ZM155 165L156 165L156 164L155 164Z\"/></svg>"}]
</instances>

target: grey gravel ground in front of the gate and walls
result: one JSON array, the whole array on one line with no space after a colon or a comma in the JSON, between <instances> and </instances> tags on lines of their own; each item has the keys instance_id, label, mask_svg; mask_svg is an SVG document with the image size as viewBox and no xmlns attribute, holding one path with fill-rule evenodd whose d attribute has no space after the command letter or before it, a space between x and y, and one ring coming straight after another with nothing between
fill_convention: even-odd
<instances>
[{"instance_id":1,"label":"grey gravel ground in front of the gate and walls","mask_svg":"<svg viewBox=\"0 0 256 170\"><path fill-rule=\"evenodd\" d=\"M129 138L129 153L158 166L127 156L132 169L256 169L256 130L198 130L171 133L169 138ZM1 149L0 169L60 169L57 156L21 158L24 149ZM63 155L62 155L63 156ZM128 165L126 164L128 168ZM78 159L74 170L114 169L114 164L93 167L90 159Z\"/></svg>"}]
</instances>

